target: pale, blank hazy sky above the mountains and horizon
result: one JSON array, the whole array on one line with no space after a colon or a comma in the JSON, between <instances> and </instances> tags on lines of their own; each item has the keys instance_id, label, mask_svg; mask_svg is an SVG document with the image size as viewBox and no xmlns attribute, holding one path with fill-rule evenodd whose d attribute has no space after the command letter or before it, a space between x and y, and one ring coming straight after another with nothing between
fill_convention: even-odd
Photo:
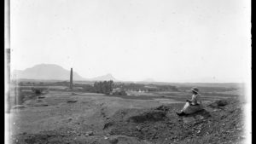
<instances>
[{"instance_id":1,"label":"pale, blank hazy sky above the mountains and horizon","mask_svg":"<svg viewBox=\"0 0 256 144\"><path fill-rule=\"evenodd\" d=\"M249 1L11 0L10 18L12 70L241 82L251 66Z\"/></svg>"}]
</instances>

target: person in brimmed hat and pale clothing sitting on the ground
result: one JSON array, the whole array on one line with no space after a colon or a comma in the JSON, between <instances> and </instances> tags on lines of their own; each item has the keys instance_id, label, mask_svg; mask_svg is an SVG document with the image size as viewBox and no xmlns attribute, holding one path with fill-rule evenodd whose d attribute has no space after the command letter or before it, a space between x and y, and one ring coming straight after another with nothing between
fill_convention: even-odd
<instances>
[{"instance_id":1,"label":"person in brimmed hat and pale clothing sitting on the ground","mask_svg":"<svg viewBox=\"0 0 256 144\"><path fill-rule=\"evenodd\" d=\"M198 111L201 111L203 109L202 103L201 103L201 95L199 95L199 89L197 88L192 88L192 99L187 100L186 104L184 105L183 109L181 112L176 112L177 115L183 116L183 115L188 115L191 113L195 113Z\"/></svg>"}]
</instances>

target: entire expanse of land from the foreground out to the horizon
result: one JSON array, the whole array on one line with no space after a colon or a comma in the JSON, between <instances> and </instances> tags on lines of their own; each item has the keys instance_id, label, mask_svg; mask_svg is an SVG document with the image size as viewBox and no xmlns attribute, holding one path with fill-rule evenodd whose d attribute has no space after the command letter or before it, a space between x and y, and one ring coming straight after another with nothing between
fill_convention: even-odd
<instances>
[{"instance_id":1,"label":"entire expanse of land from the foreground out to the horizon","mask_svg":"<svg viewBox=\"0 0 256 144\"><path fill-rule=\"evenodd\" d=\"M65 90L69 87L65 81L22 83L15 83L19 96L16 109L11 109L20 116L15 143L213 144L244 139L241 104L236 101L239 90L229 86L201 89L206 111L177 117L175 112L183 103L172 102L190 98L187 85L79 82L70 92ZM48 87L50 93L45 95ZM219 93L225 90L234 94ZM171 104L166 104L169 100Z\"/></svg>"}]
</instances>

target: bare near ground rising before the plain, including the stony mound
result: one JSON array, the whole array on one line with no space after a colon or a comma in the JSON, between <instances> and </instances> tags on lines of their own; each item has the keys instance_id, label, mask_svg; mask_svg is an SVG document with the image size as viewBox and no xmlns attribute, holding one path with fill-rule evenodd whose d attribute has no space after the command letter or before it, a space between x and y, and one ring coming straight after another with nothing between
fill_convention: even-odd
<instances>
[{"instance_id":1,"label":"bare near ground rising before the plain, including the stony mound","mask_svg":"<svg viewBox=\"0 0 256 144\"><path fill-rule=\"evenodd\" d=\"M134 96L135 97L135 96ZM227 103L225 103L225 101ZM205 101L205 111L177 117L181 101L50 91L11 110L13 143L241 143L236 98Z\"/></svg>"}]
</instances>

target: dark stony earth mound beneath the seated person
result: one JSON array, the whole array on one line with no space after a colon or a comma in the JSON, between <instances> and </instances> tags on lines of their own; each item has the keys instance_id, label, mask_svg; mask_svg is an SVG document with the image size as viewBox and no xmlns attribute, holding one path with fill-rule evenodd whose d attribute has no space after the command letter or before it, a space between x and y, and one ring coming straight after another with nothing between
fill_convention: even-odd
<instances>
[{"instance_id":1,"label":"dark stony earth mound beneath the seated person","mask_svg":"<svg viewBox=\"0 0 256 144\"><path fill-rule=\"evenodd\" d=\"M178 117L171 106L120 110L104 126L111 135L153 143L236 143L242 139L242 129L241 104L235 99L214 101L186 117Z\"/></svg>"}]
</instances>

